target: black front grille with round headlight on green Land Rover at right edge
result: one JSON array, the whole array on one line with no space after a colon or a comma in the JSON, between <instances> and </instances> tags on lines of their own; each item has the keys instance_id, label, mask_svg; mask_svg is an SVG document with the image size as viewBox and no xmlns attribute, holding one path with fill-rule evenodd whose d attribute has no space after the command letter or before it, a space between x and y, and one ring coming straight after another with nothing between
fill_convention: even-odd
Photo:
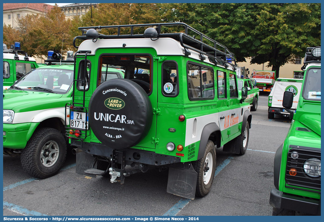
<instances>
[{"instance_id":1,"label":"black front grille with round headlight on green Land Rover at right edge","mask_svg":"<svg viewBox=\"0 0 324 222\"><path fill-rule=\"evenodd\" d=\"M286 185L321 189L320 149L290 146L286 165Z\"/></svg>"}]
</instances>

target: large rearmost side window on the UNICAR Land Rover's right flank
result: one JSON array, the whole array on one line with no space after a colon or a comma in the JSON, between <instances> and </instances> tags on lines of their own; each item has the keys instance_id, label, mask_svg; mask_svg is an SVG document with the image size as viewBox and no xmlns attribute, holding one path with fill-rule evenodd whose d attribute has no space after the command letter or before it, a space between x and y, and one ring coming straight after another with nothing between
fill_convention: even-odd
<instances>
[{"instance_id":1,"label":"large rearmost side window on the UNICAR Land Rover's right flank","mask_svg":"<svg viewBox=\"0 0 324 222\"><path fill-rule=\"evenodd\" d=\"M214 98L213 69L188 63L187 77L189 99Z\"/></svg>"}]
</instances>

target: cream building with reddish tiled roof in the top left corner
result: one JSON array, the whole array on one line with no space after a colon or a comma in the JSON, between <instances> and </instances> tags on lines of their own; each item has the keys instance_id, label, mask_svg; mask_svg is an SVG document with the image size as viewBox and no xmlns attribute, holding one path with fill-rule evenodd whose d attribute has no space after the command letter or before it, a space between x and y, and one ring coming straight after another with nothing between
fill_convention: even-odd
<instances>
[{"instance_id":1,"label":"cream building with reddish tiled roof in the top left corner","mask_svg":"<svg viewBox=\"0 0 324 222\"><path fill-rule=\"evenodd\" d=\"M44 3L4 3L3 25L17 28L17 20L26 15L45 14L53 6Z\"/></svg>"}]
</instances>

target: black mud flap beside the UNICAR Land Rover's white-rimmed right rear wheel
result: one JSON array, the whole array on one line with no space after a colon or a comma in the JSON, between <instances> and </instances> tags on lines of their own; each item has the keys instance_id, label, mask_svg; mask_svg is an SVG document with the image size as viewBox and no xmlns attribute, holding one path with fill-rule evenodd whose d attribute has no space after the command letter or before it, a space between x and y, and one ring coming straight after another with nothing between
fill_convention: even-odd
<instances>
[{"instance_id":1,"label":"black mud flap beside the UNICAR Land Rover's white-rimmed right rear wheel","mask_svg":"<svg viewBox=\"0 0 324 222\"><path fill-rule=\"evenodd\" d=\"M167 192L188 199L195 199L198 173L190 164L189 169L169 168Z\"/></svg>"}]
</instances>

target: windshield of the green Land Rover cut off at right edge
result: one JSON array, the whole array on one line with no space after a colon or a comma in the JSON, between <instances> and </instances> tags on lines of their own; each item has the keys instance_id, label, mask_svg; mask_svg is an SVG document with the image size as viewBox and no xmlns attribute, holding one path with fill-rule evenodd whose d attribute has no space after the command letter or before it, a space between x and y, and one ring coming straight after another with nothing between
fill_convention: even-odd
<instances>
[{"instance_id":1,"label":"windshield of the green Land Rover cut off at right edge","mask_svg":"<svg viewBox=\"0 0 324 222\"><path fill-rule=\"evenodd\" d=\"M307 100L321 100L320 68L311 68L307 71L303 88L303 97Z\"/></svg>"}]
</instances>

